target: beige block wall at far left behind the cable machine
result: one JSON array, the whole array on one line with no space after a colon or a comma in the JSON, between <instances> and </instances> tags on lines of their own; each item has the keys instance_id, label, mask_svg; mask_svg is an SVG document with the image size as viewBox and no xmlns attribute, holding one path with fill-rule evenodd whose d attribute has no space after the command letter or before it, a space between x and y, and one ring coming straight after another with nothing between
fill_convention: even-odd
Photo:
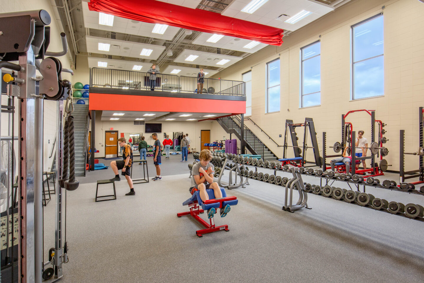
<instances>
[{"instance_id":1,"label":"beige block wall at far left behind the cable machine","mask_svg":"<svg viewBox=\"0 0 424 283\"><path fill-rule=\"evenodd\" d=\"M58 52L62 50L62 44L61 44L61 38L60 38L60 32L62 30L61 23L56 20L53 8L50 4L50 1L48 0L36 0L36 1L30 1L30 0L16 0L16 1L6 1L2 0L0 1L0 13L9 13L9 12L16 12L16 11L25 11L25 10L37 10L37 9L44 9L46 10L51 17L51 23L50 23L50 45L48 47L49 51ZM56 9L56 8L54 8ZM58 57L58 59L61 61L62 66L64 68L70 69L70 60L68 55ZM39 74L39 73L38 73ZM40 75L40 74L39 74ZM63 79L69 79L70 81L74 82L74 77L72 77L69 73L62 73ZM6 95L2 95L2 104L7 104ZM52 165L53 160L51 158L48 158L50 155L51 146L53 144L53 139L56 134L56 107L58 102L56 101L44 101L44 165L43 165L43 171L50 171L50 167ZM17 106L17 100L15 99L15 106ZM18 112L15 114L15 135L18 134ZM8 134L8 115L6 113L1 114L1 135L7 135ZM15 152L17 153L17 143L15 143Z\"/></svg>"}]
</instances>

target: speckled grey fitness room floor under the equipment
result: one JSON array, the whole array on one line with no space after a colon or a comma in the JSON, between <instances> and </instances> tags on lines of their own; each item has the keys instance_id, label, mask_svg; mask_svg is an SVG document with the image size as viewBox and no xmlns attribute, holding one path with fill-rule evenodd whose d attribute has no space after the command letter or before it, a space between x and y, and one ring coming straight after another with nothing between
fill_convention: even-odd
<instances>
[{"instance_id":1,"label":"speckled grey fitness room floor under the equipment","mask_svg":"<svg viewBox=\"0 0 424 283\"><path fill-rule=\"evenodd\" d=\"M312 210L289 213L282 210L283 188L256 180L227 190L239 203L225 218L216 214L215 224L228 224L229 232L198 238L200 224L176 216L188 210L182 202L190 197L187 164L193 162L191 154L188 162L180 160L162 159L162 180L134 185L135 196L125 196L125 179L116 182L112 201L95 202L96 181L112 178L110 167L79 177L79 188L67 192L69 262L62 283L424 282L423 223L312 194ZM153 157L148 168L154 177ZM142 165L133 170L133 177L142 175ZM304 176L304 182L319 179ZM345 182L333 186L349 189ZM99 188L99 194L111 191L110 184ZM422 197L370 187L366 192L404 204ZM44 208L45 261L54 247L54 208L54 200Z\"/></svg>"}]
</instances>

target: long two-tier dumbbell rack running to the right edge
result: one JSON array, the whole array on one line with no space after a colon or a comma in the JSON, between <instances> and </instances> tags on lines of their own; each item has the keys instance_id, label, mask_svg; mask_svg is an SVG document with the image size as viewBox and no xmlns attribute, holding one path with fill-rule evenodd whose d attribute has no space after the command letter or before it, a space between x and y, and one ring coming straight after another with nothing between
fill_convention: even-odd
<instances>
[{"instance_id":1,"label":"long two-tier dumbbell rack running to the right edge","mask_svg":"<svg viewBox=\"0 0 424 283\"><path fill-rule=\"evenodd\" d=\"M234 162L234 160L233 160L233 162ZM237 163L238 164L238 163ZM245 164L243 164L243 163L240 163L240 165L245 165ZM247 164L248 165L248 164ZM276 169L276 168L268 168L268 167L261 167L261 166L256 166L256 165L248 165L248 166L254 166L254 167L260 167L260 168L267 168L267 169L271 169L271 170L274 170L274 175L276 174L276 171L283 171L283 172L288 172L288 173L293 173L293 175L295 176L295 172L296 172L296 176L300 176L301 174L307 174L307 173L305 173L305 172L300 172L300 170L301 170L301 168L299 168L299 171L297 171L297 168L296 167L289 167L288 165L285 165L284 166L284 168L280 168L280 169ZM287 167L286 167L287 166ZM237 166L238 167L238 166ZM286 169L285 169L286 168ZM256 168L256 171L257 171L257 168ZM307 175L311 175L311 176L313 176L314 174L307 174ZM243 175L244 176L244 175ZM248 176L244 176L244 177L248 177L249 178L249 175ZM252 176L253 177L253 176ZM279 176L280 177L280 176ZM329 179L334 179L334 181L336 181L336 180L338 180L338 181L343 181L343 182L353 182L353 181L351 181L351 180L341 180L341 179L336 179L335 177L326 177L326 176L317 176L317 177L320 177L321 178L321 180L322 179L327 179L326 180L326 182L327 182L327 184L328 184L328 181L329 181ZM254 178L253 178L254 179ZM290 212L293 212L292 210L288 210L287 208L288 208L288 206L287 206L287 188L288 188L288 185L287 184L290 184L290 181L291 180L293 180L293 179L290 179L288 182L286 182L285 184L283 184L283 183L281 183L281 184L276 184L276 183L273 183L273 182L270 182L271 184L273 184L273 185L281 185L281 186L285 186L286 187L286 202L285 202L285 206L283 207L283 210L287 210L287 211L290 211ZM262 179L262 181L264 181L263 179ZM265 182L268 182L269 180L267 180L267 181L265 181ZM397 189L397 187L396 186L391 186L391 188L386 188L386 187L382 187L382 186L380 186L380 184L374 184L374 185L371 185L371 184L368 184L368 183L365 183L365 184L363 184L363 182L362 181L360 181L361 183L359 183L359 182L353 182L355 185L357 185L357 188L358 188L358 192L355 192L355 191L353 191L353 190L349 190L349 192L350 193L353 193L354 195L355 195L355 198L354 198L354 200L352 200L352 201L350 201L350 200L347 200L347 199L345 199L343 196L342 197L340 197L340 199L336 199L334 196L332 196L332 193L330 193L329 195L324 195L324 194L322 194L323 193L323 189L321 188L321 186L320 186L320 188L319 188L319 192L317 193L317 192L313 192L313 191L308 191L308 190L306 190L306 187L303 187L303 186L300 186L300 188L301 188L301 190L300 191L304 191L304 192L306 192L306 193L313 193L313 194L315 194L315 195L320 195L320 196L325 196L325 197L330 197L330 196L332 196L332 199L336 199L336 200L340 200L340 201L343 201L343 202L348 202L348 203L351 203L351 204L354 204L354 205L358 205L358 206L361 206L361 207L367 207L367 208L372 208L372 209L374 209L374 210L379 210L379 211L383 211L383 212L386 212L386 213L390 213L390 214L393 214L393 215L399 215L399 216L402 216L402 217L405 217L405 218L408 218L408 219L415 219L415 220L418 220L418 221L422 221L422 222L424 222L424 217L422 217L422 216L414 216L414 217L410 217L410 216L407 216L407 213L405 213L405 212L402 212L402 210L404 210L404 205L402 204L402 203L400 203L400 202L387 202L386 201L386 205L391 205L392 203L393 204L395 204L395 205L397 205L398 206L398 211L396 212L396 210L389 210L388 208L385 208L385 207L381 207L381 208L376 208L376 207L373 207L370 203L372 203L374 200L377 200L378 198L374 198L374 196L373 195L371 195L371 194L366 194L365 193L365 191L363 192L363 193L360 193L359 192L359 185L364 185L364 188L365 188L365 185L368 185L368 186L371 186L371 187L374 187L374 188L385 188L385 189L389 189L389 190L394 190L394 191L402 191L402 190L398 190ZM307 185L309 185L309 186L311 186L310 184L307 184ZM350 186L350 185L349 185ZM297 186L291 186L290 185L290 188L292 188L292 189L295 189L295 190L298 190L298 187ZM311 188L312 188L312 186L311 186ZM330 187L331 188L331 187ZM340 189L340 188L338 188L338 189ZM340 189L341 190L341 189ZM293 191L293 190L292 190ZM298 190L299 191L299 190ZM344 191L343 191L344 192ZM346 192L347 192L347 190L346 190ZM410 189L409 191L407 191L408 193L416 193L416 194L421 194L421 195L424 195L424 193L421 193L421 192L419 192L419 191L416 191L416 190L413 190L413 189ZM301 195L301 192L299 192L299 195ZM364 196L365 197L365 202L361 202L360 200L357 200L357 197L359 197L360 195L362 195L362 196ZM367 198L367 196L368 196L368 201L366 200L366 198ZM383 199L378 199L378 200L380 200L381 202L384 202L385 200L383 200ZM422 214L422 212L423 212L423 210L424 210L424 208L421 208L420 206L418 206L418 205L415 205L415 204L407 204L407 205L412 205L412 206L415 206L416 208L418 208L418 211L421 209L421 213L420 213L420 215ZM402 207L403 206L403 207ZM305 207L307 207L307 205L306 205L306 202L305 202ZM411 207L411 206L410 206ZM307 207L307 208L309 208L309 207ZM298 209L300 209L300 208L298 208ZM296 209L297 210L297 209Z\"/></svg>"}]
</instances>

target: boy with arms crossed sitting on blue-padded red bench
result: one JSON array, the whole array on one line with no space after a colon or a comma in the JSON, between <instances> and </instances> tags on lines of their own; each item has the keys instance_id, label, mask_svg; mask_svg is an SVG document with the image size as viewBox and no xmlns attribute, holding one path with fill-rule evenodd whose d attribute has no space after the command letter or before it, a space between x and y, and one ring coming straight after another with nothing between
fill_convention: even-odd
<instances>
[{"instance_id":1,"label":"boy with arms crossed sitting on blue-padded red bench","mask_svg":"<svg viewBox=\"0 0 424 283\"><path fill-rule=\"evenodd\" d=\"M213 174L215 172L214 165L209 163L212 160L212 153L209 149L204 149L200 152L199 156L200 162L193 165L192 168L192 176L190 193L193 195L196 191L199 191L199 196L202 201L206 201L209 199L209 195L206 193L206 189L213 189L215 199L222 198L221 189L218 186L217 182L213 181ZM220 215L221 217L225 217L227 213L229 213L231 207L230 205L226 205L225 207L221 207ZM209 208L208 218L212 218L216 213L216 209L214 207Z\"/></svg>"}]
</instances>

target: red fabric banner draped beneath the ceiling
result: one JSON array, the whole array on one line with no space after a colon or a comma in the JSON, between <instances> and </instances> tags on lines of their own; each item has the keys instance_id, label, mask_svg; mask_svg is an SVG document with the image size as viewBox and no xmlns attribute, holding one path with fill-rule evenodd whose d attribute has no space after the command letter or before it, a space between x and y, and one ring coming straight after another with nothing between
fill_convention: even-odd
<instances>
[{"instance_id":1,"label":"red fabric banner draped beneath the ceiling","mask_svg":"<svg viewBox=\"0 0 424 283\"><path fill-rule=\"evenodd\" d=\"M269 45L280 46L283 43L283 30L280 28L156 0L90 0L88 7L91 11L140 22L159 23L193 31L223 34Z\"/></svg>"}]
</instances>

